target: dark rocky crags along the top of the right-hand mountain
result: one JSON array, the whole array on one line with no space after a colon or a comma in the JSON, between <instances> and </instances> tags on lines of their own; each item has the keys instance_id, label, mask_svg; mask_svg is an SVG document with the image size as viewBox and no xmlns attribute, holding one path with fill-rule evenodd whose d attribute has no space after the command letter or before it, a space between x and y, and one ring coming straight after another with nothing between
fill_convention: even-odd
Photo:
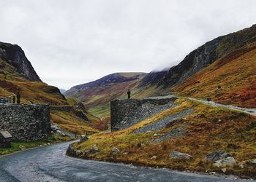
<instances>
[{"instance_id":1,"label":"dark rocky crags along the top of the right-hand mountain","mask_svg":"<svg viewBox=\"0 0 256 182\"><path fill-rule=\"evenodd\" d=\"M214 61L222 58L238 48L256 41L256 25L226 36L206 42L187 55L177 66L173 66L165 74L158 86L170 87L186 81L190 76L206 68Z\"/></svg>"}]
</instances>

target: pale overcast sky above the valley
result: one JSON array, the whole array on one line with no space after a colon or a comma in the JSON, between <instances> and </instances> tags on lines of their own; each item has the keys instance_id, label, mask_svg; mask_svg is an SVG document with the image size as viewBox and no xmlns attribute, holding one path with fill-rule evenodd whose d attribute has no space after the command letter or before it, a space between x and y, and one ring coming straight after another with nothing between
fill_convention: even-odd
<instances>
[{"instance_id":1,"label":"pale overcast sky above the valley","mask_svg":"<svg viewBox=\"0 0 256 182\"><path fill-rule=\"evenodd\" d=\"M255 0L0 0L0 41L50 85L170 68L206 41L256 23Z\"/></svg>"}]
</instances>

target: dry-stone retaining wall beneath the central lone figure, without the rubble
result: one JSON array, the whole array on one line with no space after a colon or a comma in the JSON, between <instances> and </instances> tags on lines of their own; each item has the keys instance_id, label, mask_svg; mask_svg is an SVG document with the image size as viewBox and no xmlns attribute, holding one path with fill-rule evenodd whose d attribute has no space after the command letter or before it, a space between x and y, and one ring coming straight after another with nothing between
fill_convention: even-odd
<instances>
[{"instance_id":1,"label":"dry-stone retaining wall beneath the central lone figure, without the rubble","mask_svg":"<svg viewBox=\"0 0 256 182\"><path fill-rule=\"evenodd\" d=\"M135 114L139 107L143 104L150 103L152 105L160 106L167 103L174 103L176 98L144 98L138 99L124 99L124 100L113 100L110 102L110 128L111 131L120 130L121 122ZM130 124L132 125L132 124ZM129 126L129 124L127 124Z\"/></svg>"}]
</instances>

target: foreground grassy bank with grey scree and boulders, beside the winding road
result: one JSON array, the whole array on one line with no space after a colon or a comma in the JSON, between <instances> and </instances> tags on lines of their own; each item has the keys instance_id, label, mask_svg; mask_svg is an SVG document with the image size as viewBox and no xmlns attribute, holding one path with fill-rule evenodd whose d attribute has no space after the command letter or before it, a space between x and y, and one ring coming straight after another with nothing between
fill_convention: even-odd
<instances>
[{"instance_id":1,"label":"foreground grassy bank with grey scree and boulders, beside the winding road","mask_svg":"<svg viewBox=\"0 0 256 182\"><path fill-rule=\"evenodd\" d=\"M255 178L255 116L184 98L176 99L169 108L146 119L134 115L130 117L137 121L132 126L91 135L88 141L75 143L67 154L83 159ZM220 150L236 164L223 162L217 166L217 160L225 158L218 155ZM184 155L173 157L177 152ZM216 158L206 158L209 154Z\"/></svg>"}]
</instances>

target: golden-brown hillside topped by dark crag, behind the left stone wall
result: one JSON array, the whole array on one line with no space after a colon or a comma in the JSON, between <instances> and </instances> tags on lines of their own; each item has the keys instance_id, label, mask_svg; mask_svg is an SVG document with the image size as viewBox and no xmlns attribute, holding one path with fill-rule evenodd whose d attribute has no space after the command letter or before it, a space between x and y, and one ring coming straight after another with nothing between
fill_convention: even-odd
<instances>
[{"instance_id":1,"label":"golden-brown hillside topped by dark crag, behind the left stone wall","mask_svg":"<svg viewBox=\"0 0 256 182\"><path fill-rule=\"evenodd\" d=\"M45 103L50 106L68 104L57 87L41 82L18 45L0 42L0 97L15 96L18 92L21 103ZM93 120L97 122L95 118ZM51 111L51 121L69 132L97 132L88 119L80 118L75 111Z\"/></svg>"}]
</instances>

